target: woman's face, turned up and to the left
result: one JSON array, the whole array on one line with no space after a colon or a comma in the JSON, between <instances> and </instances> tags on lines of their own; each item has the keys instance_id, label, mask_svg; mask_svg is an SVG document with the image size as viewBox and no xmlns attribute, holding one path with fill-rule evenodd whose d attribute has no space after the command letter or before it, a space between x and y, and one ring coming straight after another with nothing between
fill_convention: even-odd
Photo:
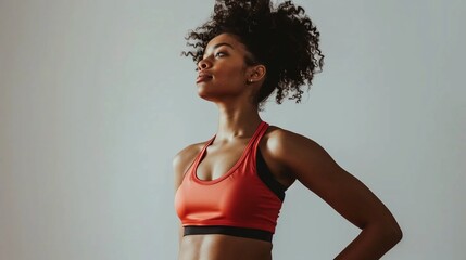
<instances>
[{"instance_id":1,"label":"woman's face, turned up and to the left","mask_svg":"<svg viewBox=\"0 0 466 260\"><path fill-rule=\"evenodd\" d=\"M198 94L209 101L250 96L253 90L247 83L250 69L244 62L248 54L244 44L232 35L213 38L198 63Z\"/></svg>"}]
</instances>

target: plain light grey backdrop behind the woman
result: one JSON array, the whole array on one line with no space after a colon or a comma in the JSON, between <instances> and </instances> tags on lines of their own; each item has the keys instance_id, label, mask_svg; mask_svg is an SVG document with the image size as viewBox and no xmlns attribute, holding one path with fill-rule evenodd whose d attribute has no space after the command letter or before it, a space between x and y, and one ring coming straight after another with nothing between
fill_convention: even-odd
<instances>
[{"instance_id":1,"label":"plain light grey backdrop behind the woman","mask_svg":"<svg viewBox=\"0 0 466 260\"><path fill-rule=\"evenodd\" d=\"M466 259L465 2L297 2L324 73L263 118L392 210L404 238L383 259ZM0 259L176 258L171 160L217 126L179 53L212 5L0 0ZM332 259L356 234L295 183L274 259Z\"/></svg>"}]
</instances>

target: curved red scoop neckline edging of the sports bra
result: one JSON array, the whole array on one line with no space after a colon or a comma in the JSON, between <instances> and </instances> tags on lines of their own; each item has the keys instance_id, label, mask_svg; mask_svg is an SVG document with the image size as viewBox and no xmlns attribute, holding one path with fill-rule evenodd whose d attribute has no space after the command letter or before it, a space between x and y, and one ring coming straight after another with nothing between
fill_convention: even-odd
<instances>
[{"instance_id":1,"label":"curved red scoop neckline edging of the sports bra","mask_svg":"<svg viewBox=\"0 0 466 260\"><path fill-rule=\"evenodd\" d=\"M239 157L239 159L235 162L235 165L229 169L229 170L227 170L224 174L222 174L221 177L218 177L218 178L216 178L216 179L213 179L213 180L201 180L199 177L198 177L198 167L199 167L199 164L201 164L201 161L204 159L204 157L205 157L205 153L206 153L206 151L207 151L207 147L214 142L214 140L215 140L215 138L217 136L217 134L215 134L209 142L207 142L207 144L204 146L204 148L201 151L201 154L200 154L200 156L199 156L199 159L198 159L198 161L196 162L196 165L194 165L194 168L193 168L193 172L192 172L192 176L193 176L193 179L194 179L194 181L196 182L198 182L198 183L201 183L201 184L215 184L215 183L218 183L218 182L221 182L221 181L223 181L223 180L225 180L226 178L228 178L229 176L231 176L231 173L232 172L235 172L235 170L236 169L238 169L238 167L241 165L241 162L244 160L244 157L247 156L247 154L248 154L248 152L250 151L250 148L251 148L251 145L254 143L254 140L257 138L257 135L259 135L259 133L261 132L261 129L263 128L263 126L265 125L265 122L264 121L261 121L260 123L259 123L259 126L257 126L257 128L255 129L255 132L254 132L254 134L251 136L251 139L248 141L248 144L245 145L245 147L244 147L244 150L242 151L242 154L241 154L241 156Z\"/></svg>"}]
</instances>

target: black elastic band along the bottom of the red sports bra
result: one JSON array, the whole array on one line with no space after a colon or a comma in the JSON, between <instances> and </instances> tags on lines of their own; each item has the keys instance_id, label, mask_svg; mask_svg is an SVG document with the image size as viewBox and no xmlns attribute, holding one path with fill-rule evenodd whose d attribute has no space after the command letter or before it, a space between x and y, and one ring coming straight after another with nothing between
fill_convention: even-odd
<instances>
[{"instance_id":1,"label":"black elastic band along the bottom of the red sports bra","mask_svg":"<svg viewBox=\"0 0 466 260\"><path fill-rule=\"evenodd\" d=\"M184 236L187 235L207 235L207 234L223 234L230 236L239 236L245 238L253 238L259 240L272 242L273 233L256 229L225 226L225 225L187 225L185 226Z\"/></svg>"}]
</instances>

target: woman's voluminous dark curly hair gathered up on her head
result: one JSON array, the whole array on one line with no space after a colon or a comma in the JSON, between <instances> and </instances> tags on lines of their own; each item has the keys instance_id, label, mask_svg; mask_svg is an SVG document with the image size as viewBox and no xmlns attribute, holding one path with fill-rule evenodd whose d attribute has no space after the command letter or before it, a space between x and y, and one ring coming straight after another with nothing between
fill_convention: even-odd
<instances>
[{"instance_id":1,"label":"woman's voluminous dark curly hair gathered up on her head","mask_svg":"<svg viewBox=\"0 0 466 260\"><path fill-rule=\"evenodd\" d=\"M188 32L185 39L192 49L182 55L199 63L209 41L225 32L237 36L251 53L247 65L267 69L255 98L260 108L275 90L278 104L286 96L301 102L302 86L310 90L314 74L322 72L319 32L304 9L291 1L274 8L269 0L217 0L210 20Z\"/></svg>"}]
</instances>

